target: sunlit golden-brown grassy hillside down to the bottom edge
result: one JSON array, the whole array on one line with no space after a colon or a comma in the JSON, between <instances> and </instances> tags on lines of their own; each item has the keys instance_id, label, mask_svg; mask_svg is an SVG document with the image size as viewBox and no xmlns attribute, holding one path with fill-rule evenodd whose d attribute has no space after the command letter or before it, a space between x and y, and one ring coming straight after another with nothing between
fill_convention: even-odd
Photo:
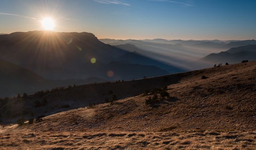
<instances>
[{"instance_id":1,"label":"sunlit golden-brown grassy hillside down to the bottom edge","mask_svg":"<svg viewBox=\"0 0 256 150\"><path fill-rule=\"evenodd\" d=\"M208 78L202 79L203 75ZM165 77L168 82L156 77L109 84L116 86L116 93L124 94L113 104L59 109L59 113L53 109L39 123L0 126L0 150L256 149L256 62ZM161 84L155 85L158 81ZM135 82L138 91L134 88L129 94ZM168 83L171 97L160 99L153 107L146 105L149 95L142 90L164 83ZM129 85L127 91L121 92L125 84ZM66 93L58 92L55 97L58 95L64 99ZM91 93L90 99L93 97Z\"/></svg>"}]
</instances>

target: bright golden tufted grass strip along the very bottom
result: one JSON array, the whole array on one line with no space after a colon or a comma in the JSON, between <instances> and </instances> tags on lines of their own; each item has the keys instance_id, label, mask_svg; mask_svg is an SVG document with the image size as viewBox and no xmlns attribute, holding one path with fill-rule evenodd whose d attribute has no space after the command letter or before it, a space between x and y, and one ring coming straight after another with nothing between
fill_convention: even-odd
<instances>
[{"instance_id":1,"label":"bright golden tufted grass strip along the very bottom","mask_svg":"<svg viewBox=\"0 0 256 150\"><path fill-rule=\"evenodd\" d=\"M255 150L255 140L256 132L16 132L0 134L0 149Z\"/></svg>"}]
</instances>

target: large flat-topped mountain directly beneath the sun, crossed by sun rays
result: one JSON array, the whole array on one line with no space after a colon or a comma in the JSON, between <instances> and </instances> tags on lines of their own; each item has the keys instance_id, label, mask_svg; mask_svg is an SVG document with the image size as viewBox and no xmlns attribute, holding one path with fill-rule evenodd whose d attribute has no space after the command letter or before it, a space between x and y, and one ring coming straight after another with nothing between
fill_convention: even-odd
<instances>
[{"instance_id":1,"label":"large flat-topped mountain directly beneath the sun, crossed by sun rays","mask_svg":"<svg viewBox=\"0 0 256 150\"><path fill-rule=\"evenodd\" d=\"M107 63L125 53L86 32L29 31L0 35L0 58L42 73L40 75L49 74L54 68L55 73L59 72L58 79L62 76L63 79L76 78L71 72L79 71L81 64L90 62L91 58ZM63 69L69 72L63 72ZM65 74L61 76L62 73Z\"/></svg>"}]
</instances>

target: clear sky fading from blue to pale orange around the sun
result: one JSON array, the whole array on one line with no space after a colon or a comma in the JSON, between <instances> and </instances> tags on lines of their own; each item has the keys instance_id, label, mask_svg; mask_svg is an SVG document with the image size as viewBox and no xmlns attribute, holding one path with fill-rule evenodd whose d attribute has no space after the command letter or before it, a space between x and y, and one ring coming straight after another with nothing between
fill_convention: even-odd
<instances>
[{"instance_id":1,"label":"clear sky fading from blue to pale orange around the sun","mask_svg":"<svg viewBox=\"0 0 256 150\"><path fill-rule=\"evenodd\" d=\"M111 39L256 39L256 0L0 0L0 33L90 32Z\"/></svg>"}]
</instances>

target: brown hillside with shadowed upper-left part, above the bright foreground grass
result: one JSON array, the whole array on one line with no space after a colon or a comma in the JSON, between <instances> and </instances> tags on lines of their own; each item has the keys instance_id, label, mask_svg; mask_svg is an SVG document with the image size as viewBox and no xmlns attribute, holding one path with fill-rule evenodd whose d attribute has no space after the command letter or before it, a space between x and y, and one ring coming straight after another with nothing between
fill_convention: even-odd
<instances>
[{"instance_id":1,"label":"brown hillside with shadowed upper-left part, above the bright foreground grass","mask_svg":"<svg viewBox=\"0 0 256 150\"><path fill-rule=\"evenodd\" d=\"M146 130L153 131L160 127L178 125L177 122L179 122L177 129L193 129L196 127L203 129L213 127L216 129L225 129L226 127L228 127L228 129L243 129L243 125L246 125L246 127L250 126L250 130L254 130L256 126L252 119L243 118L243 116L256 113L256 107L254 107L254 105L256 105L256 101L254 101L256 98L256 85L254 84L256 80L255 67L256 62L254 61L129 82L77 86L71 89L46 93L42 97L30 95L30 97L28 97L30 99L29 101L10 99L8 103L5 103L5 107L2 107L1 112L8 111L10 105L12 105L12 107L20 107L20 109L16 110L22 111L22 109L26 108L25 110L31 109L37 114L39 111L50 110L50 108L56 104L61 106L66 103L72 107L84 107L86 104L88 105L89 102L102 103L105 101L104 97L108 98L111 94L116 94L118 99L121 99L120 101L116 101L113 105L108 103L97 105L95 109L92 109L92 111L95 112L94 118L81 118L86 119L86 123L97 124L100 123L98 119L108 117L109 114L114 113L115 115L112 116L113 118L111 117L112 119L108 120L105 118L104 120L106 122L94 129L90 129L87 124L81 122L80 125L83 127L74 127L73 130L100 131L102 129L110 129L114 131L141 131L144 123L147 123L150 124L150 126L148 126ZM202 76L208 78L202 79ZM152 96L152 94L148 95L148 93L150 93L148 92L145 95L143 91L160 88L163 85L168 85L167 91L171 96L170 99L159 99L160 103L156 103L154 107L146 105L145 99L150 95ZM111 94L109 91L111 91ZM56 97L56 95L58 95L58 97ZM41 100L44 97L49 99L49 104L42 107L42 109L34 109L33 100ZM20 105L20 103L24 102L26 102L26 105ZM249 104L250 107L247 107ZM51 111L55 111L56 109L58 109L58 107ZM144 110L143 113L141 110ZM240 113L242 110L246 111ZM76 113L78 111L90 112L90 110L86 108L76 109L72 112ZM156 111L158 113L156 113ZM220 115L220 112L222 112L222 115ZM50 113L50 111L47 113ZM236 126L236 123L225 122L222 125L220 124L221 126L218 126L218 120L230 115L230 113L234 115L230 116L229 119L236 119L235 122L242 125ZM53 122L58 122L58 125L62 125L62 122L65 121L65 116L68 114L69 111L54 115L56 121ZM79 114L81 113L77 115ZM150 120L144 118L145 120L143 119L143 121L145 122L142 124L131 122L131 124L122 126L121 129L115 128L121 123L119 122L121 121L120 117L132 119L139 116L148 116L150 120L158 119L159 122L150 122ZM2 117L6 117L5 113L3 113ZM253 115L247 117L252 118ZM59 120L60 118L63 119ZM200 119L203 119L205 123L201 124ZM133 121L136 121L136 119ZM64 127L64 130L68 130L68 128L70 128L70 126ZM58 130L58 128L56 128L56 130Z\"/></svg>"}]
</instances>

